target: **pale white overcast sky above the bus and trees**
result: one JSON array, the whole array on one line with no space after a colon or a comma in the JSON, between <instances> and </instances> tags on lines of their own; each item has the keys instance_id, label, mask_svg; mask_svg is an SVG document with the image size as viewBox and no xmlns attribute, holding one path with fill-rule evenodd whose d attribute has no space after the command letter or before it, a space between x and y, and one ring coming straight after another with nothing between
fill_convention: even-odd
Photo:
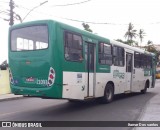
<instances>
[{"instance_id":1,"label":"pale white overcast sky above the bus and trees","mask_svg":"<svg viewBox=\"0 0 160 130\"><path fill-rule=\"evenodd\" d=\"M148 40L160 45L159 0L48 0L39 6L44 1L14 0L14 12L23 19L33 9L23 22L54 19L80 29L82 22L78 21L91 22L88 24L93 33L109 39L126 40L124 34L131 22L137 33L139 29L146 33L142 45ZM8 10L9 0L0 0L0 63L8 59L9 22L3 19L9 19ZM139 42L138 38L134 40Z\"/></svg>"}]
</instances>

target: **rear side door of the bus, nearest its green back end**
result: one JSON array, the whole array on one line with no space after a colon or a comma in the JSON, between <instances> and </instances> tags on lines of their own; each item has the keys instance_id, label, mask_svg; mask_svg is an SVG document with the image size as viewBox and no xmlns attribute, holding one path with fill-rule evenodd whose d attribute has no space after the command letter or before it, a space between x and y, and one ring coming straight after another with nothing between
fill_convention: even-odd
<instances>
[{"instance_id":1,"label":"rear side door of the bus, nearest its green back end","mask_svg":"<svg viewBox=\"0 0 160 130\"><path fill-rule=\"evenodd\" d=\"M86 94L85 97L94 96L95 91L95 68L96 49L94 43L85 42L85 70L86 70Z\"/></svg>"}]
</instances>

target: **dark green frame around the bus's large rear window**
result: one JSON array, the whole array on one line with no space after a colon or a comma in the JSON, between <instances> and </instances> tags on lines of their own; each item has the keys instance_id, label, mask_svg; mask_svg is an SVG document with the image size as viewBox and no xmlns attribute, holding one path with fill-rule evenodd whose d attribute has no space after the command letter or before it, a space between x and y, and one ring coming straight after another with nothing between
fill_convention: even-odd
<instances>
[{"instance_id":1,"label":"dark green frame around the bus's large rear window","mask_svg":"<svg viewBox=\"0 0 160 130\"><path fill-rule=\"evenodd\" d=\"M16 30L16 29L22 29L22 28L27 28L27 27L32 27L32 26L46 26L47 27L47 33L48 33L48 47L47 48L44 48L44 49L34 49L34 50L22 50L22 51L16 51L16 50L12 50L12 47L11 47L11 37L12 37L12 31L13 30ZM18 26L18 27L14 27L13 29L9 30L9 51L11 52L17 52L17 53L20 53L20 52L30 52L30 51L41 51L41 50L47 50L50 46L50 33L49 33L49 27L48 27L48 24L47 23L34 23L34 24L30 24L30 25L24 25L24 26Z\"/></svg>"}]
</instances>

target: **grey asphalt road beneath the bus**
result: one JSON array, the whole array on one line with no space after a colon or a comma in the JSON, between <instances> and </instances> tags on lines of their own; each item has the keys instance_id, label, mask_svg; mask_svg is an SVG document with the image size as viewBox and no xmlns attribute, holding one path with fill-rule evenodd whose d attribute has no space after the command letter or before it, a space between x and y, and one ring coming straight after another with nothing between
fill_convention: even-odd
<instances>
[{"instance_id":1,"label":"grey asphalt road beneath the bus","mask_svg":"<svg viewBox=\"0 0 160 130\"><path fill-rule=\"evenodd\" d=\"M160 81L157 81L156 87L148 90L147 94L117 95L110 104L99 104L96 101L70 103L67 100L35 97L3 101L0 102L0 121L139 121L148 101L157 94L160 94ZM9 128L4 128L4 130L6 129ZM17 130L17 128L10 129ZM117 130L116 127L54 127L44 129ZM130 129L133 128L118 128L118 130Z\"/></svg>"}]
</instances>

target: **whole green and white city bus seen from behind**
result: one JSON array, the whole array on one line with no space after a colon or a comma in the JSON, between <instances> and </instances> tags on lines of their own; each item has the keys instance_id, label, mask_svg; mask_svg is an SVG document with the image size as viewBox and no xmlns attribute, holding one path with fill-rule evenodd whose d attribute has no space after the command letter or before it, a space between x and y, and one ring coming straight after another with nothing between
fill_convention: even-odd
<instances>
[{"instance_id":1,"label":"whole green and white city bus seen from behind","mask_svg":"<svg viewBox=\"0 0 160 130\"><path fill-rule=\"evenodd\" d=\"M42 98L108 103L155 84L153 54L53 20L10 27L9 68L12 93Z\"/></svg>"}]
</instances>

